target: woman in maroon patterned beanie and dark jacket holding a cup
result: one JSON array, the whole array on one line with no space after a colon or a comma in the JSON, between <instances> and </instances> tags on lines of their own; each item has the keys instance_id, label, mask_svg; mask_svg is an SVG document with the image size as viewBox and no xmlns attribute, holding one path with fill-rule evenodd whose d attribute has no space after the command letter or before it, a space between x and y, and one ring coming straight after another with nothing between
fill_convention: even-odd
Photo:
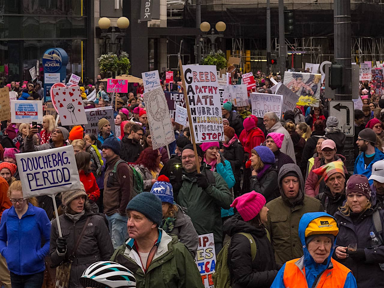
<instances>
[{"instance_id":1,"label":"woman in maroon patterned beanie and dark jacket holding a cup","mask_svg":"<svg viewBox=\"0 0 384 288\"><path fill-rule=\"evenodd\" d=\"M377 233L384 225L384 210L372 205L371 190L364 175L349 177L346 197L345 205L334 215L340 231L333 257L352 270L359 288L382 287L384 271L379 263L384 263L384 245L381 241L372 247L370 233L384 238L383 232ZM374 225L375 215L379 227ZM356 246L349 247L350 244Z\"/></svg>"}]
</instances>

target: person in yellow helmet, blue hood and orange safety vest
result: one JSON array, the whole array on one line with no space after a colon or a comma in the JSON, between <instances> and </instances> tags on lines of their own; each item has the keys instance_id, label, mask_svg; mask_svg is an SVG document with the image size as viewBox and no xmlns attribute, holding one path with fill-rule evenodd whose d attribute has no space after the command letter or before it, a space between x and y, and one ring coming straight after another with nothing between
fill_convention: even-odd
<instances>
[{"instance_id":1,"label":"person in yellow helmet, blue hood and orange safety vest","mask_svg":"<svg viewBox=\"0 0 384 288\"><path fill-rule=\"evenodd\" d=\"M271 288L357 288L351 270L332 259L338 233L334 217L324 212L304 214L298 227L304 255L286 262Z\"/></svg>"}]
</instances>

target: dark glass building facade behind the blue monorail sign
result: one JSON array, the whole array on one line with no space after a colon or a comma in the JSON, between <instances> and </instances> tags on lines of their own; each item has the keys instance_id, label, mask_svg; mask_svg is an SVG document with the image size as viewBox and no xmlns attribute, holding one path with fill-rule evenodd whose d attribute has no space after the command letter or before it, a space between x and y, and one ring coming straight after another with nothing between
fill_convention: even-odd
<instances>
[{"instance_id":1,"label":"dark glass building facade behind the blue monorail sign","mask_svg":"<svg viewBox=\"0 0 384 288\"><path fill-rule=\"evenodd\" d=\"M93 66L86 57L94 33L90 8L87 0L0 0L0 84L31 80L36 61L43 81L41 58L53 47L68 54L67 79L71 73L86 78Z\"/></svg>"}]
</instances>

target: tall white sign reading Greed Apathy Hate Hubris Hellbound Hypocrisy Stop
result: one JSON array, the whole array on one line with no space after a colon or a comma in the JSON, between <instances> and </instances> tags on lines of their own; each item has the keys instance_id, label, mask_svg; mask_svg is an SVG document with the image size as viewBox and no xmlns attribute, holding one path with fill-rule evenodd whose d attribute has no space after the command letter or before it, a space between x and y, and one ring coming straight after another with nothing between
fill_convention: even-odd
<instances>
[{"instance_id":1,"label":"tall white sign reading Greed Apathy Hate Hubris Hellbound Hypocrisy Stop","mask_svg":"<svg viewBox=\"0 0 384 288\"><path fill-rule=\"evenodd\" d=\"M214 65L183 65L196 143L223 141L223 116Z\"/></svg>"}]
</instances>

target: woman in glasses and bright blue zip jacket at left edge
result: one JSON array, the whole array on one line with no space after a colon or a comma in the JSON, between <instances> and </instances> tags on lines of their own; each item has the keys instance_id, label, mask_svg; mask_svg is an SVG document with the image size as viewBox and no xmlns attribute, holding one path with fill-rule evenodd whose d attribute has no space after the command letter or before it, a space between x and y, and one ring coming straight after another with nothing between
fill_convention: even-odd
<instances>
[{"instance_id":1,"label":"woman in glasses and bright blue zip jacket at left edge","mask_svg":"<svg viewBox=\"0 0 384 288\"><path fill-rule=\"evenodd\" d=\"M8 197L13 206L1 217L0 253L7 261L12 288L41 288L51 223L45 210L32 205L37 204L35 198L24 199L20 181L11 184Z\"/></svg>"}]
</instances>

